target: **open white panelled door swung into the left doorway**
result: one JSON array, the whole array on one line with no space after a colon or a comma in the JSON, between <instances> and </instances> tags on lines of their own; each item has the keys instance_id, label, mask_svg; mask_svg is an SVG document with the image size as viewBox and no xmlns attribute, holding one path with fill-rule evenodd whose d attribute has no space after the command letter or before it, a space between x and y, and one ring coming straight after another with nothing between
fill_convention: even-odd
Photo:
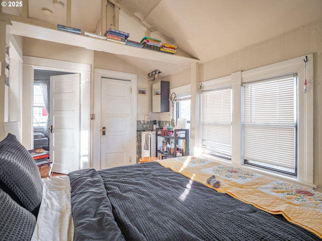
<instances>
[{"instance_id":1,"label":"open white panelled door swung into the left doorway","mask_svg":"<svg viewBox=\"0 0 322 241\"><path fill-rule=\"evenodd\" d=\"M52 171L79 169L79 74L50 77L50 159Z\"/></svg>"}]
</instances>

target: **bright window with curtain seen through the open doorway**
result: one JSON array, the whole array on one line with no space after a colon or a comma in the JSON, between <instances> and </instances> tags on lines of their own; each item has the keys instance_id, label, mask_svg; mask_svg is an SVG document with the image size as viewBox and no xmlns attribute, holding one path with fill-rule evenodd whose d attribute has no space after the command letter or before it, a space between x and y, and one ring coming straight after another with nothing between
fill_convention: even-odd
<instances>
[{"instance_id":1,"label":"bright window with curtain seen through the open doorway","mask_svg":"<svg viewBox=\"0 0 322 241\"><path fill-rule=\"evenodd\" d=\"M46 111L40 83L34 83L33 126L45 127L48 113Z\"/></svg>"}]
</instances>

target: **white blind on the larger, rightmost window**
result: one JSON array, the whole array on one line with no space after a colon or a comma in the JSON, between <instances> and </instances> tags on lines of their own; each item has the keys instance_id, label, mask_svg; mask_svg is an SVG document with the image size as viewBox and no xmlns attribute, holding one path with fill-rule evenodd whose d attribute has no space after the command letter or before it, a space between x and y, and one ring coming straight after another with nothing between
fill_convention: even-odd
<instances>
[{"instance_id":1,"label":"white blind on the larger, rightmost window","mask_svg":"<svg viewBox=\"0 0 322 241\"><path fill-rule=\"evenodd\" d=\"M297 78L243 85L244 162L296 175Z\"/></svg>"}]
</instances>

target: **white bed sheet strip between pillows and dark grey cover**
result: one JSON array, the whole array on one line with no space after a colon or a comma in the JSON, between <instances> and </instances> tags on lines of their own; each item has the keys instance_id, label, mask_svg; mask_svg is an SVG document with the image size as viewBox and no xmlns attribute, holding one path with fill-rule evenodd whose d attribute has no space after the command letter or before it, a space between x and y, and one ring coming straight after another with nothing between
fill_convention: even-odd
<instances>
[{"instance_id":1,"label":"white bed sheet strip between pillows and dark grey cover","mask_svg":"<svg viewBox=\"0 0 322 241\"><path fill-rule=\"evenodd\" d=\"M42 201L32 241L73 240L68 176L42 179Z\"/></svg>"}]
</instances>

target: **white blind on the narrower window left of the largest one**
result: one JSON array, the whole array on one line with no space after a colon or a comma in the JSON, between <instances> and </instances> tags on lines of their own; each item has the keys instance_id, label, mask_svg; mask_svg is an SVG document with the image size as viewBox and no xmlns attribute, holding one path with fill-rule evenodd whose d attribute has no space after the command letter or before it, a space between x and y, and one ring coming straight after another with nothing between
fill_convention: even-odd
<instances>
[{"instance_id":1,"label":"white blind on the narrower window left of the largest one","mask_svg":"<svg viewBox=\"0 0 322 241\"><path fill-rule=\"evenodd\" d=\"M202 148L231 160L231 88L202 92Z\"/></svg>"}]
</instances>

